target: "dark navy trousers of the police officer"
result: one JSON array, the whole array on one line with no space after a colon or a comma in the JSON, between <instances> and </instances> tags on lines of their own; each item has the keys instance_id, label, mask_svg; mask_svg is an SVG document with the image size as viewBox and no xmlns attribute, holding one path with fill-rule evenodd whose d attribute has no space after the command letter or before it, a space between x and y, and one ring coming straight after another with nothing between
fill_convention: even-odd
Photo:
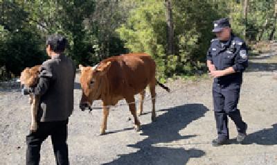
<instances>
[{"instance_id":1,"label":"dark navy trousers of the police officer","mask_svg":"<svg viewBox=\"0 0 277 165\"><path fill-rule=\"evenodd\" d=\"M229 139L228 116L235 123L239 133L245 133L246 123L242 121L238 101L240 87L222 87L213 84L213 107L218 139Z\"/></svg>"}]
</instances>

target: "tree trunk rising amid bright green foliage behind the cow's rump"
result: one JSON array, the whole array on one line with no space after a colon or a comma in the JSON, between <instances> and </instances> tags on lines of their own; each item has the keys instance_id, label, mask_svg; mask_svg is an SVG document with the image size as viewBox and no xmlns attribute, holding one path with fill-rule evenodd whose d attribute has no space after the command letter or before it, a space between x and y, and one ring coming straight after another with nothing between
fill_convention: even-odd
<instances>
[{"instance_id":1,"label":"tree trunk rising amid bright green foliage behind the cow's rump","mask_svg":"<svg viewBox=\"0 0 277 165\"><path fill-rule=\"evenodd\" d=\"M173 18L172 18L172 8L171 8L171 0L165 0L166 6L166 23L168 26L167 37L168 37L168 50L167 54L174 53L174 31L173 31Z\"/></svg>"}]
</instances>

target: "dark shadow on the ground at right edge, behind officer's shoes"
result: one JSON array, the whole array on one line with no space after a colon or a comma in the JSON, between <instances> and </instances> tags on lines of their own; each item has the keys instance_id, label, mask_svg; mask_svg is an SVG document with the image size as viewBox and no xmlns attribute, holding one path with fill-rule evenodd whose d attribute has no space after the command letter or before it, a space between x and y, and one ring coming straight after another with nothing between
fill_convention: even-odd
<instances>
[{"instance_id":1,"label":"dark shadow on the ground at right edge, behind officer's shoes","mask_svg":"<svg viewBox=\"0 0 277 165\"><path fill-rule=\"evenodd\" d=\"M273 128L259 130L248 134L242 144L260 144L265 146L277 144L277 123L272 125Z\"/></svg>"}]
</instances>

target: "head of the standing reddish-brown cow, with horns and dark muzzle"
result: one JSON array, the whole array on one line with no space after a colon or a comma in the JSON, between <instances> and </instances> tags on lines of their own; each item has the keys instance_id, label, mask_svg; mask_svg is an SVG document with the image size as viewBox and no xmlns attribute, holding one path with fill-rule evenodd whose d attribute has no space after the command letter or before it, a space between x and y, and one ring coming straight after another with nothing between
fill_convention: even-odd
<instances>
[{"instance_id":1,"label":"head of the standing reddish-brown cow, with horns and dark muzzle","mask_svg":"<svg viewBox=\"0 0 277 165\"><path fill-rule=\"evenodd\" d=\"M93 101L99 100L101 95L101 87L103 86L102 77L107 73L111 62L100 62L94 67L83 67L79 65L81 71L80 85L82 87L82 98L80 101L80 109L91 107Z\"/></svg>"}]
</instances>

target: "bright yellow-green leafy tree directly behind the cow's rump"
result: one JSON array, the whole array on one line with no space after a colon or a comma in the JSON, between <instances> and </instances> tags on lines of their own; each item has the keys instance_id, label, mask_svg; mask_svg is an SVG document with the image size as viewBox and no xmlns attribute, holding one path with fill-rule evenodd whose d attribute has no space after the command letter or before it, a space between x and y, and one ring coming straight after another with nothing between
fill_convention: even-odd
<instances>
[{"instance_id":1,"label":"bright yellow-green leafy tree directly behind the cow's rump","mask_svg":"<svg viewBox=\"0 0 277 165\"><path fill-rule=\"evenodd\" d=\"M157 62L159 78L192 74L204 67L206 50L213 37L211 22L219 18L216 10L207 1L170 1L172 19L163 19L168 15L165 8L168 1L139 1L138 8L132 10L126 24L118 28L125 46L134 52L146 52ZM173 25L173 19L178 20ZM168 21L169 20L169 21ZM171 32L172 45L176 51L166 55Z\"/></svg>"}]
</instances>

